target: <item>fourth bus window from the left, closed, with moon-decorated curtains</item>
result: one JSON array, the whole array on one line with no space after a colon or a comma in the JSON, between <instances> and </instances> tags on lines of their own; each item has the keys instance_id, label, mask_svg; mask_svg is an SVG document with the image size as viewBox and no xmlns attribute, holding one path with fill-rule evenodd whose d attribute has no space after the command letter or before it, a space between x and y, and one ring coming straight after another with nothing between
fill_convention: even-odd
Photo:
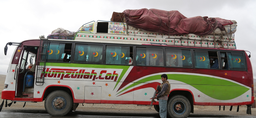
<instances>
[{"instance_id":1,"label":"fourth bus window from the left, closed, with moon-decorated curtains","mask_svg":"<svg viewBox=\"0 0 256 118\"><path fill-rule=\"evenodd\" d=\"M164 66L162 48L136 48L136 65Z\"/></svg>"}]
</instances>

